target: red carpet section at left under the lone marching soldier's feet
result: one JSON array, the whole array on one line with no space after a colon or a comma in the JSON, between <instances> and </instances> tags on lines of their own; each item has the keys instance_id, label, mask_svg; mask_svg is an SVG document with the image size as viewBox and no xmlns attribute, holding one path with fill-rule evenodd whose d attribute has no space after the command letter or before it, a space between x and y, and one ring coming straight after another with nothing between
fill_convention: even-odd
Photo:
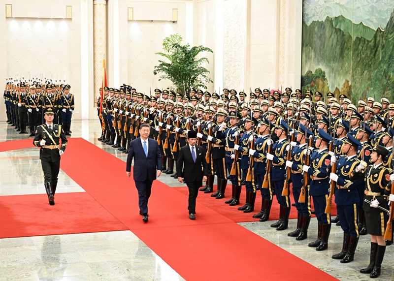
<instances>
[{"instance_id":1,"label":"red carpet section at left under the lone marching soldier's feet","mask_svg":"<svg viewBox=\"0 0 394 281\"><path fill-rule=\"evenodd\" d=\"M42 187L44 190L44 187ZM0 196L0 238L127 230L86 192Z\"/></svg>"}]
</instances>

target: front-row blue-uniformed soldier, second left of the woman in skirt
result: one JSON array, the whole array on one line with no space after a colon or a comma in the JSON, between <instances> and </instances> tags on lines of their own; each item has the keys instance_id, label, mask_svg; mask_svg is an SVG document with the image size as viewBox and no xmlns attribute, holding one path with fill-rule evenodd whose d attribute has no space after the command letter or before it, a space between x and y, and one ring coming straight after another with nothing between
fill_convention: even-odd
<instances>
[{"instance_id":1,"label":"front-row blue-uniformed soldier, second left of the woman in skirt","mask_svg":"<svg viewBox=\"0 0 394 281\"><path fill-rule=\"evenodd\" d=\"M318 238L315 242L309 243L309 247L316 247L316 250L326 250L328 248L328 237L331 230L330 215L325 214L329 178L328 167L330 165L330 155L328 154L328 143L333 138L323 129L318 129L319 135L316 139L316 147L310 159L310 166L303 166L303 171L311 178L309 195L312 196L315 207L315 215L318 220Z\"/></svg>"}]
</instances>

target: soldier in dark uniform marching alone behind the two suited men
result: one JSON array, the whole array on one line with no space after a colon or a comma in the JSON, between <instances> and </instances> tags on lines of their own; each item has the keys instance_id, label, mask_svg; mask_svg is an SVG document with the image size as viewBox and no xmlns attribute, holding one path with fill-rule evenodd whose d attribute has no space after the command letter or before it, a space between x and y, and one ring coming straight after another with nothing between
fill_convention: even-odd
<instances>
[{"instance_id":1,"label":"soldier in dark uniform marching alone behind the two suited men","mask_svg":"<svg viewBox=\"0 0 394 281\"><path fill-rule=\"evenodd\" d=\"M44 109L45 124L37 126L33 145L40 148L40 160L44 172L44 185L50 205L55 205L55 192L60 170L60 156L67 145L61 125L53 124L54 108Z\"/></svg>"}]
</instances>

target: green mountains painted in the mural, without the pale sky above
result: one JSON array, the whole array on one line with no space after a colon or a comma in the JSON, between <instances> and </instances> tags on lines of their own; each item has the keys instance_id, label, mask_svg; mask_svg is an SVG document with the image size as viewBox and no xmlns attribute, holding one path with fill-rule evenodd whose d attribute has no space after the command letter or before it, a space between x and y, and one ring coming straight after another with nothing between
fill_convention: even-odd
<instances>
[{"instance_id":1,"label":"green mountains painted in the mural, without the pale sky above","mask_svg":"<svg viewBox=\"0 0 394 281\"><path fill-rule=\"evenodd\" d=\"M361 24L353 25L353 37L351 29L344 17L303 22L302 73L321 68L331 92L351 81L353 101L366 96L394 100L394 12L385 30L372 30L372 36Z\"/></svg>"}]
</instances>

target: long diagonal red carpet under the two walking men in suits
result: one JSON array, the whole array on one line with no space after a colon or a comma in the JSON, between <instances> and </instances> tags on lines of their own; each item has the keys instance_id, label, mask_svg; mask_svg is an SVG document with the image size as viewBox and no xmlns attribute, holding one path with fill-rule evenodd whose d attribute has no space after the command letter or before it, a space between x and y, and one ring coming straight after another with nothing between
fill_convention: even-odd
<instances>
[{"instance_id":1,"label":"long diagonal red carpet under the two walking men in suits","mask_svg":"<svg viewBox=\"0 0 394 281\"><path fill-rule=\"evenodd\" d=\"M335 280L199 202L190 220L187 196L159 181L142 223L126 163L83 139L69 140L61 168L188 281Z\"/></svg>"}]
</instances>

